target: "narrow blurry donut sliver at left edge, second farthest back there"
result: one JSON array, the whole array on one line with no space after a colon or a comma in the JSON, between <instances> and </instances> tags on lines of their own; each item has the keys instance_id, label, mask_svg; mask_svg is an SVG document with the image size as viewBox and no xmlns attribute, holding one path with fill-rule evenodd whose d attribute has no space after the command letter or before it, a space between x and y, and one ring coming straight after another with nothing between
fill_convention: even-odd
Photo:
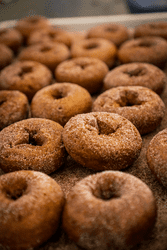
<instances>
[{"instance_id":1,"label":"narrow blurry donut sliver at left edge, second farthest back there","mask_svg":"<svg viewBox=\"0 0 167 250\"><path fill-rule=\"evenodd\" d=\"M13 51L3 43L0 43L0 70L8 66L14 60Z\"/></svg>"}]
</instances>

